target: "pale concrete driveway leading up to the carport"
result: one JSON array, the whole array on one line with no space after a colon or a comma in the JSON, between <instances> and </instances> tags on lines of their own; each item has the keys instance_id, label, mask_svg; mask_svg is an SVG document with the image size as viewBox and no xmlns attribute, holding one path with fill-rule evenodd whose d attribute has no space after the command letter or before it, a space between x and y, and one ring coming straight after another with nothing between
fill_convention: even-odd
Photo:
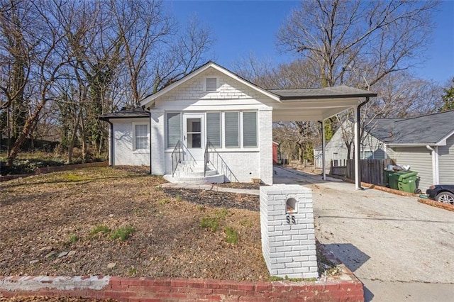
<instances>
[{"instance_id":1,"label":"pale concrete driveway leading up to the carport","mask_svg":"<svg viewBox=\"0 0 454 302\"><path fill-rule=\"evenodd\" d=\"M454 212L282 167L274 181L313 189L316 237L366 301L454 301Z\"/></svg>"}]
</instances>

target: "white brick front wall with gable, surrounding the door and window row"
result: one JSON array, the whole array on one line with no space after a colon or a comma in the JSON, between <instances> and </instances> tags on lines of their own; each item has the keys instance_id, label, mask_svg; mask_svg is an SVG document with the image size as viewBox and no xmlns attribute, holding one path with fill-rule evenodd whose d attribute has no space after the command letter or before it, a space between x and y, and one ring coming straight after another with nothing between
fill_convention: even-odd
<instances>
[{"instance_id":1,"label":"white brick front wall with gable, surrounding the door and window row","mask_svg":"<svg viewBox=\"0 0 454 302\"><path fill-rule=\"evenodd\" d=\"M218 78L217 91L204 91L206 77ZM152 110L160 113L152 121L157 130L152 133L153 174L169 174L172 169L172 150L165 150L164 145L155 147L155 142L165 144L165 112L209 112L209 111L258 111L258 147L216 148L223 160L228 164L238 181L250 182L251 179L262 179L265 184L272 184L272 106L267 96L255 89L226 77L216 69L207 69L194 79L167 92L155 101ZM240 126L242 127L242 125ZM153 131L153 130L152 130ZM157 153L162 154L158 155ZM164 159L165 155L165 159ZM159 169L155 169L155 161ZM235 181L235 179L228 179Z\"/></svg>"}]
</instances>

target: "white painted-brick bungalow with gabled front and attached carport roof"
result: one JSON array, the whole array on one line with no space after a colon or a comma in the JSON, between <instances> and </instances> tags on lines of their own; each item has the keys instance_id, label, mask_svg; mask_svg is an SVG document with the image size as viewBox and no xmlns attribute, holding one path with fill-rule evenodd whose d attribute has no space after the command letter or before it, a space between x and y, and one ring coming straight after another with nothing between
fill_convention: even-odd
<instances>
[{"instance_id":1,"label":"white painted-brick bungalow with gabled front and attached carport roof","mask_svg":"<svg viewBox=\"0 0 454 302\"><path fill-rule=\"evenodd\" d=\"M150 165L171 182L272 184L273 121L323 123L376 95L347 86L266 90L208 62L141 108L100 118L111 123L112 165Z\"/></svg>"}]
</instances>

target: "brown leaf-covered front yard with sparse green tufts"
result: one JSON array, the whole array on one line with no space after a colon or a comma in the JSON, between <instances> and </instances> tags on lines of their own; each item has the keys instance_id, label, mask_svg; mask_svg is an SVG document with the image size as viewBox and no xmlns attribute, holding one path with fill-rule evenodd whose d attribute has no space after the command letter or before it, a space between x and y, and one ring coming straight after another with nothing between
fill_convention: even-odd
<instances>
[{"instance_id":1,"label":"brown leaf-covered front yard with sparse green tufts","mask_svg":"<svg viewBox=\"0 0 454 302\"><path fill-rule=\"evenodd\" d=\"M89 168L0 184L0 275L269 279L258 196L161 189L144 172Z\"/></svg>"}]
</instances>

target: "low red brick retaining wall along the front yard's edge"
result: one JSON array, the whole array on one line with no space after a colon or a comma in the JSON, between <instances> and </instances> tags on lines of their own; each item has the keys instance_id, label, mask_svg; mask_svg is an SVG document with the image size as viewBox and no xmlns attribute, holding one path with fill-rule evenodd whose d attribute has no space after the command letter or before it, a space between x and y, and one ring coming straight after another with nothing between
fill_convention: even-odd
<instances>
[{"instance_id":1,"label":"low red brick retaining wall along the front yard's edge","mask_svg":"<svg viewBox=\"0 0 454 302\"><path fill-rule=\"evenodd\" d=\"M216 279L153 279L114 276L0 276L0 297L72 296L118 301L364 301L362 283L237 282Z\"/></svg>"}]
</instances>

